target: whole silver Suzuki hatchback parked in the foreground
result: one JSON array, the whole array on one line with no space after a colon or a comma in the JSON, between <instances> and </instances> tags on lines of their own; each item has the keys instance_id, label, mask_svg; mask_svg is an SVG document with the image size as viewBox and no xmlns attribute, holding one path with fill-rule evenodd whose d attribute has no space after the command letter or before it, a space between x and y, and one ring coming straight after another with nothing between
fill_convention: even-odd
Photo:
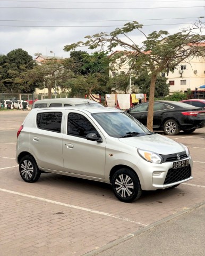
<instances>
[{"instance_id":1,"label":"whole silver Suzuki hatchback parked in the foreground","mask_svg":"<svg viewBox=\"0 0 205 256\"><path fill-rule=\"evenodd\" d=\"M142 190L192 179L186 146L119 109L35 108L17 137L16 161L26 182L37 181L41 172L96 180L110 183L120 201L132 202Z\"/></svg>"}]
</instances>

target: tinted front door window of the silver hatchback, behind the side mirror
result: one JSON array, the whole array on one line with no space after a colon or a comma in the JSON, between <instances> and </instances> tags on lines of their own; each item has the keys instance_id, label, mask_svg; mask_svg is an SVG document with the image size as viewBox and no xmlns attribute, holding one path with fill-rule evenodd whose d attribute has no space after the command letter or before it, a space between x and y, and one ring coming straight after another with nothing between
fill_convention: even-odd
<instances>
[{"instance_id":1,"label":"tinted front door window of the silver hatchback, behind the side mirror","mask_svg":"<svg viewBox=\"0 0 205 256\"><path fill-rule=\"evenodd\" d=\"M86 138L89 133L96 133L99 137L99 133L86 117L70 113L67 121L67 134Z\"/></svg>"}]
</instances>

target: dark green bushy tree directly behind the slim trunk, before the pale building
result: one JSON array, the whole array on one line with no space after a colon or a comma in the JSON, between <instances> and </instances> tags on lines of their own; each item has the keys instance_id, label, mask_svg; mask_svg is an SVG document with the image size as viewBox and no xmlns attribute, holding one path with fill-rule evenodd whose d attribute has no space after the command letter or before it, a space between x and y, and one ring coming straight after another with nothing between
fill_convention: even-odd
<instances>
[{"instance_id":1,"label":"dark green bushy tree directly behind the slim trunk, before the pale building","mask_svg":"<svg viewBox=\"0 0 205 256\"><path fill-rule=\"evenodd\" d=\"M166 77L157 76L155 85L155 98L166 97L169 95L169 84L167 84ZM135 86L139 87L140 93L146 93L149 98L151 77L146 73L142 73L138 78L135 79Z\"/></svg>"}]
</instances>

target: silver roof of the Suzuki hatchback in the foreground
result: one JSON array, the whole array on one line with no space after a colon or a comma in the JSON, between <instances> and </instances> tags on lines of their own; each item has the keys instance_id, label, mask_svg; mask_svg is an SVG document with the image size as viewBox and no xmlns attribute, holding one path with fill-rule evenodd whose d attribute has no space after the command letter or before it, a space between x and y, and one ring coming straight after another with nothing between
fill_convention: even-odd
<instances>
[{"instance_id":1,"label":"silver roof of the Suzuki hatchback in the foreground","mask_svg":"<svg viewBox=\"0 0 205 256\"><path fill-rule=\"evenodd\" d=\"M54 110L78 110L78 111L82 111L83 113L90 113L90 114L94 114L94 113L111 113L111 112L124 112L121 109L117 109L117 108L99 108L99 107L75 107L75 106L70 106L68 107L52 107L52 108L33 108L31 109L32 112L36 111L36 112L52 112ZM30 111L30 112L31 112Z\"/></svg>"}]
</instances>

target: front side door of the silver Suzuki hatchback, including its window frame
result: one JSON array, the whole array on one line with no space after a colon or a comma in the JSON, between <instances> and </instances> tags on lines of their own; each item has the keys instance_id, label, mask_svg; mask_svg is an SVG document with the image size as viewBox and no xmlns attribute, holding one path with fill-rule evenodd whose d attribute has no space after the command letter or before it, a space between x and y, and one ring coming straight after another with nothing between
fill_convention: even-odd
<instances>
[{"instance_id":1,"label":"front side door of the silver Suzuki hatchback, including its window frame","mask_svg":"<svg viewBox=\"0 0 205 256\"><path fill-rule=\"evenodd\" d=\"M78 110L67 110L66 134L63 135L63 159L65 172L87 177L105 177L106 139L90 117ZM86 139L96 133L102 142Z\"/></svg>"}]
</instances>

